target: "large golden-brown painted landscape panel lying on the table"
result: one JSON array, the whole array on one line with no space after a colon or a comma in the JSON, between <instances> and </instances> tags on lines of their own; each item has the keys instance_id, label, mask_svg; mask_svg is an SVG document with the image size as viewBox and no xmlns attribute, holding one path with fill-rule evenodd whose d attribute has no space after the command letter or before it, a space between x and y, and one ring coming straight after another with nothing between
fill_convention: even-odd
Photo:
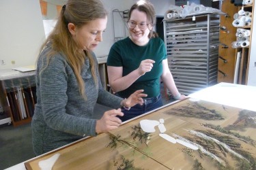
<instances>
[{"instance_id":1,"label":"large golden-brown painted landscape panel lying on the table","mask_svg":"<svg viewBox=\"0 0 256 170\"><path fill-rule=\"evenodd\" d=\"M25 166L40 169L38 163L59 154L53 169L255 169L256 112L200 100L200 93L27 160ZM162 122L166 131L155 126L154 132L145 132L145 120Z\"/></svg>"}]
</instances>

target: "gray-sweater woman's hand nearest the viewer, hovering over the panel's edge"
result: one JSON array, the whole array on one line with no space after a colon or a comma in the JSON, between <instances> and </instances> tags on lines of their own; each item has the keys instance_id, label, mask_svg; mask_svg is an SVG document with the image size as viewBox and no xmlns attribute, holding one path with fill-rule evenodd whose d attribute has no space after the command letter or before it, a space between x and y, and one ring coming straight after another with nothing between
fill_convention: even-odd
<instances>
[{"instance_id":1,"label":"gray-sweater woman's hand nearest the viewer, hovering over the panel's edge","mask_svg":"<svg viewBox=\"0 0 256 170\"><path fill-rule=\"evenodd\" d=\"M96 133L103 133L117 129L117 127L122 124L122 120L117 118L117 116L124 116L121 109L111 109L104 112L102 118L96 121Z\"/></svg>"}]
</instances>

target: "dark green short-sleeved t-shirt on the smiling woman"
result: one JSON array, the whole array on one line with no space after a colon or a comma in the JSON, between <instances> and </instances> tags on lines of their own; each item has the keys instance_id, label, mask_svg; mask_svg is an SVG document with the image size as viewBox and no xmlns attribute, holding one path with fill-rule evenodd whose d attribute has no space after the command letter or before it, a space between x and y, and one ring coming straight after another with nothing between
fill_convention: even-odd
<instances>
[{"instance_id":1,"label":"dark green short-sleeved t-shirt on the smiling woman","mask_svg":"<svg viewBox=\"0 0 256 170\"><path fill-rule=\"evenodd\" d=\"M147 45L137 46L129 37L117 41L111 47L107 65L123 67L123 76L139 67L141 61L152 59L156 63L150 72L142 75L126 90L118 92L123 98L129 97L134 91L144 89L147 98L160 94L160 75L162 75L162 60L167 58L165 44L159 37L151 38Z\"/></svg>"}]
</instances>

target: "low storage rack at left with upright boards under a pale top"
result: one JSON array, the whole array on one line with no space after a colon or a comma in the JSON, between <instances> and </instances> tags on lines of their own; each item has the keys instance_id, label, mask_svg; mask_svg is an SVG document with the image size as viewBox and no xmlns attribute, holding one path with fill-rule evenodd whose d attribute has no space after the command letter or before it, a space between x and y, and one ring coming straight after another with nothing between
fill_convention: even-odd
<instances>
[{"instance_id":1,"label":"low storage rack at left with upright boards under a pale top","mask_svg":"<svg viewBox=\"0 0 256 170\"><path fill-rule=\"evenodd\" d=\"M36 103L35 72L0 71L0 99L3 112L18 126L31 122Z\"/></svg>"}]
</instances>

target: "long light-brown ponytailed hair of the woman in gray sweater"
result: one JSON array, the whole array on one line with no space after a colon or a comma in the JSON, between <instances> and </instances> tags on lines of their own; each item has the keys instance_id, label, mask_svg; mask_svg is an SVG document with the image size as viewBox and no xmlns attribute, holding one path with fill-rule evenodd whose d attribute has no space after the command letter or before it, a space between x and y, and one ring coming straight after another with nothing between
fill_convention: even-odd
<instances>
[{"instance_id":1,"label":"long light-brown ponytailed hair of the woman in gray sweater","mask_svg":"<svg viewBox=\"0 0 256 170\"><path fill-rule=\"evenodd\" d=\"M107 12L100 0L69 0L66 5L63 5L55 28L40 49L40 52L42 52L44 47L51 42L52 50L47 54L48 62L49 58L57 52L65 54L64 57L66 57L66 61L72 67L74 75L76 75L80 93L85 99L85 84L81 77L81 70L85 63L85 59L89 58L91 74L96 86L98 84L96 67L98 66L96 66L91 52L83 52L79 49L79 44L74 41L70 31L68 31L68 23L73 23L76 27L80 28L91 20L106 18L106 16Z\"/></svg>"}]
</instances>

